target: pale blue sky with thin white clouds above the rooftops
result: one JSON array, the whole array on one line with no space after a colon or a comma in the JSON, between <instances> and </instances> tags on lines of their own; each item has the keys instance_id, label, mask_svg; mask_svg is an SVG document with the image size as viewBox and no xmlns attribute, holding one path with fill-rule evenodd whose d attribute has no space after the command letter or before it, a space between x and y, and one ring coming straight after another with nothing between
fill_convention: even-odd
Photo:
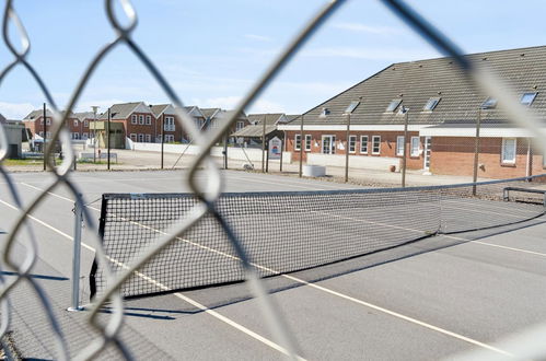
<instances>
[{"instance_id":1,"label":"pale blue sky with thin white clouds above the rooftops","mask_svg":"<svg viewBox=\"0 0 546 361\"><path fill-rule=\"evenodd\" d=\"M325 0L133 0L133 40L185 105L230 109ZM407 0L465 53L546 45L546 1ZM2 13L3 13L3 4ZM104 1L14 0L27 57L63 108L91 59L115 38ZM119 8L119 7L118 7ZM121 22L126 21L117 9ZM10 38L20 44L15 27ZM346 1L247 113L301 114L393 62L441 56L380 1ZM13 55L0 42L0 69ZM105 57L77 110L170 100L125 45ZM21 119L45 102L21 66L0 83L0 114Z\"/></svg>"}]
</instances>

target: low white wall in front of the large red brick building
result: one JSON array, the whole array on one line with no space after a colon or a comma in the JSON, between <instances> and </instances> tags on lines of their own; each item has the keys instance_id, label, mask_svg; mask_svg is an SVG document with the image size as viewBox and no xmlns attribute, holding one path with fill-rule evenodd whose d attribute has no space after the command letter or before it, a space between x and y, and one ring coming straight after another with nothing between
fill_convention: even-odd
<instances>
[{"instance_id":1,"label":"low white wall in front of the large red brick building","mask_svg":"<svg viewBox=\"0 0 546 361\"><path fill-rule=\"evenodd\" d=\"M307 153L307 164L345 166L345 154ZM391 165L399 166L398 158L349 155L349 167L387 171Z\"/></svg>"}]
</instances>

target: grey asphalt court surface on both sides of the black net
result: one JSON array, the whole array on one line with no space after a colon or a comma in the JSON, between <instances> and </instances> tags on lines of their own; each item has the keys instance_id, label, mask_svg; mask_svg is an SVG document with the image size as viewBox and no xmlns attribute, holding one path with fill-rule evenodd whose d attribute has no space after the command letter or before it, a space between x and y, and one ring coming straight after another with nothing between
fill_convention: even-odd
<instances>
[{"instance_id":1,"label":"grey asphalt court surface on both sides of the black net","mask_svg":"<svg viewBox=\"0 0 546 361\"><path fill-rule=\"evenodd\" d=\"M39 173L12 177L24 202L50 183ZM100 201L93 201L103 193L187 191L182 172L96 172L71 177L94 209L100 209ZM200 177L206 182L205 175ZM357 187L226 172L224 190L350 188ZM47 272L44 276L57 277L58 284L66 283L61 288L66 294L57 292L51 296L67 306L72 254L69 236L73 231L71 198L62 187L54 189L33 212L32 221L39 240L39 268ZM507 213L485 202L450 202L473 218ZM5 185L0 184L0 230L8 230L14 221L10 205L13 201ZM274 298L301 347L301 356L310 360L426 360L472 349L502 356L510 350L497 346L497 340L546 322L545 221L537 218L516 228L430 237L266 282L276 291ZM84 230L83 241L92 246L86 240L89 232L92 230ZM4 236L0 233L0 238ZM88 276L93 256L91 249L82 249L82 275ZM89 291L85 281L82 286ZM126 305L126 326L144 338L142 345L160 349L163 354L159 359L282 357L244 284L130 300ZM204 312L200 306L209 308Z\"/></svg>"}]
</instances>

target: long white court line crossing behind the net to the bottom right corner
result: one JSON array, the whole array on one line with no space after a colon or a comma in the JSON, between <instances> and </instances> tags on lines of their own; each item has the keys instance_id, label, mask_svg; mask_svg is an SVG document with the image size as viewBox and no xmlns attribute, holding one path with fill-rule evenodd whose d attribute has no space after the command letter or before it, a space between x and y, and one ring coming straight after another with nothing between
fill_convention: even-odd
<instances>
[{"instance_id":1,"label":"long white court line crossing behind the net to the bottom right corner","mask_svg":"<svg viewBox=\"0 0 546 361\"><path fill-rule=\"evenodd\" d=\"M31 187L33 187L33 186L31 186ZM33 188L36 188L36 187L33 187ZM37 189L39 189L39 188L37 188ZM66 197L62 197L62 196L58 196L58 197L59 197L59 198L61 198L61 199L70 200L70 199L68 199L68 198L66 198ZM71 201L71 200L70 200L70 201ZM94 210L97 210L97 211L98 211L98 209L96 209L96 208L93 208L93 207L89 207L89 208L91 208L91 209L94 209ZM144 224L140 224L140 223L138 223L138 222L135 222L135 223L137 223L137 224L139 224L139 225L141 225L141 226L143 226L143 228L146 228L146 229L153 230L153 231L155 231L155 232L158 232L158 233L166 234L166 233L165 233L165 232L163 232L163 231L159 231L159 230L151 229L151 228L149 228L149 226L147 226L147 225L144 225ZM207 251L211 251L211 252L213 252L213 253L216 253L216 254L221 254L221 255L224 255L224 256L226 256L226 257L229 257L229 258L231 258L231 259L233 259L233 260L237 260L237 259L239 259L237 257L234 257L234 256L232 256L232 255L225 254L225 253L223 253L223 252L221 252L221 251L218 251L218 249L214 249L214 248L210 248L210 247L208 247L208 246L204 246L204 245L200 245L200 244L195 244L194 242L188 241L188 240L184 240L184 238L182 238L182 237L177 237L177 238L178 238L179 241L184 241L184 242L186 242L186 243L189 243L189 244L196 245L196 246L198 246L198 247L200 247L200 248L206 248ZM337 292L337 291L334 291L334 290L327 289L327 288L325 288L325 287L322 287L322 286L318 286L318 284L315 284L315 283L310 283L310 282L307 282L307 281L305 281L305 280L299 279L299 278L293 277L293 276L290 276L290 275L282 275L282 273L280 273L280 272L278 272L278 271L274 270L274 269L270 269L270 268L267 268L267 267L263 267L263 266L260 266L260 265L256 265L256 264L252 264L252 265L253 265L253 266L255 266L255 267L257 267L257 268L260 268L260 269L263 269L263 270L266 270L266 271L269 271L269 272L272 272L272 273L280 275L280 277L283 277L283 278L290 279L290 280L295 281L295 282L299 282L299 283L301 283L301 284L305 284L305 286L312 287L312 288L314 288L314 289L316 289L316 290L321 290L321 291L323 291L323 292L326 292L326 293L328 293L328 294L332 294L332 295L335 295L335 296L341 298L341 299L344 299L344 300L347 300L347 301L350 301L350 302L353 302L353 303L357 303L357 304L360 304L360 305L363 305L363 306L367 306L367 307L370 307L370 308L373 308L373 310L380 311L380 312L385 313L385 314L387 314L387 315L391 315L391 316L393 316L393 317L404 319L404 321L406 321L406 322L409 322L409 323L413 323L413 324L415 324L415 325L418 325L418 326L421 326L421 327L428 328L428 329L430 329L430 330L433 330L433 331L437 331L437 333L440 333L440 334L443 334L443 335L446 335L446 336L453 337L453 338L455 338L455 339L458 339L458 340L462 340L462 341L465 341L465 342L472 343L472 345L474 345L474 346L479 346L479 347L481 347L481 348L485 348L485 349L488 349L488 350L490 350L490 351L495 351L495 352L498 352L498 353L501 353L501 354L504 354L504 356L513 356L513 354L511 354L510 352L507 352L507 351L504 351L504 350L498 349L498 348L492 347L492 346L490 346L490 345L487 345L487 343L480 342L480 341L478 341L478 340L472 339L472 338L469 338L469 337L466 337L466 336L463 336L463 335L460 335L460 334L456 334L456 333L450 331L450 330L448 330L448 329L444 329L444 328L441 328L441 327L438 327L438 326L434 326L434 325L428 324L428 323L422 322L422 321L418 321L418 319L416 319L416 318L413 318L413 317L409 317L409 316L406 316L406 315L399 314L399 313L397 313L397 312L394 312L394 311L391 311L391 310L387 310L387 308L384 308L384 307L377 306L377 305L375 305L375 304L372 304L372 303L369 303L369 302L365 302L365 301L362 301L362 300L358 300L358 299L356 299L356 298L352 298L352 296L346 295L346 294L344 294L344 293L340 293L340 292ZM146 276L146 275L144 275L144 276ZM205 307L205 306L204 306L204 307ZM206 310L208 310L208 308L206 308ZM205 310L204 310L204 311L205 311ZM278 347L280 347L280 346L278 346Z\"/></svg>"}]
</instances>

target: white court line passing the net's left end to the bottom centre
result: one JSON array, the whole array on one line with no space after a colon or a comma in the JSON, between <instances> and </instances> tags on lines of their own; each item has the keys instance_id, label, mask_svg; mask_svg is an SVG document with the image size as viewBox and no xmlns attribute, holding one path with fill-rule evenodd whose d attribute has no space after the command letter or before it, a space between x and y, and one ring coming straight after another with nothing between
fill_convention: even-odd
<instances>
[{"instance_id":1,"label":"white court line passing the net's left end to the bottom centre","mask_svg":"<svg viewBox=\"0 0 546 361\"><path fill-rule=\"evenodd\" d=\"M32 187L32 186L31 186L31 187ZM50 194L50 193L48 193L48 194ZM58 195L55 195L55 196L57 196L58 198L61 198L61 199L70 200L70 199L68 199L68 198L66 198L66 197L62 197L62 196L58 196ZM71 201L71 200L70 200L70 201ZM1 200L1 199L0 199L0 203L4 205L4 206L7 206L7 207L9 207L9 208L11 208L11 209L13 209L13 210L19 210L19 208L16 208L16 207L14 207L14 206L12 206L12 205L10 205L10 203L8 203L8 202L5 202L5 201ZM93 210L97 210L96 208L93 208L93 207L89 207L89 208L91 208L91 209L93 209ZM51 226L51 225L47 224L46 222L44 222L44 221L42 221L42 220L37 219L36 217L31 216L31 214L27 214L27 217L28 217L30 219L32 219L33 221L35 221L35 222L37 222L37 223L39 223L40 225L44 225L44 226L46 226L47 229L49 229L49 230L51 230L51 231L54 231L54 232L56 232L56 233L60 234L60 235L61 235L61 236L63 236L65 238L67 238L67 240L71 241L71 242L73 242L73 241L74 241L74 238L73 238L71 235L69 235L69 234L67 234L67 233L62 232L62 231L61 231L61 230L59 230L59 229L56 229L56 228L54 228L54 226ZM91 252L95 252L95 248L93 248L93 247L91 247L91 246L86 245L85 243L83 243L83 242L82 242L81 244L82 244L82 246L83 246L83 247L85 247L86 249L89 249L89 251L91 251ZM117 265L121 266L121 267L123 267L123 268L125 268L125 269L128 269L128 268L129 268L127 265L125 265L125 264L123 264L123 263L120 263L120 261L118 261L118 260L116 260L116 259L113 259L112 257L107 257L107 258L108 258L109 260L112 260L113 263L115 263L115 264L117 264ZM161 283L161 282L158 282L156 280L154 280L154 279L150 278L149 276L146 276L146 275L143 275L143 273L139 272L139 271L136 271L135 273L136 273L137 276L139 276L139 277L143 278L144 280L147 280L147 281L149 281L149 282L151 282L151 283L153 283L153 284L158 286L160 289L162 289L162 290L164 290L164 291L171 291L171 289L170 289L169 287L166 287L165 284L163 284L163 283ZM288 351L287 351L283 347L281 347L280 345L278 345L278 343L276 343L276 342L274 342L274 341L271 341L271 340L269 340L269 339L265 338L264 336L262 336L262 335L259 335L259 334L257 334L257 333L255 333L255 331L251 330L249 328L246 328L245 326L243 326L243 325L241 325L241 324L239 324L239 323L234 322L233 319L228 318L228 317L225 317L224 315L222 315L222 314L220 314L220 313L218 313L218 312L216 312L216 311L213 311L213 310L210 310L209 307L207 307L207 306L205 306L204 304L201 304L201 303L199 303L199 302L197 302L197 301L195 301L195 300L193 300L193 299L188 298L187 295L184 295L183 293L179 293L179 292L173 293L173 295L175 295L176 298L178 298L178 299L181 299L181 300L186 301L187 303L189 303L189 304L194 305L195 307L197 307L197 308L201 310L202 312L205 312L205 313L207 313L207 314L211 315L212 317L214 317L214 318L217 318L217 319L219 319L219 321L221 321L221 322L223 322L223 323L228 324L229 326L232 326L232 327L236 328L237 330L242 331L243 334L246 334L247 336L251 336L252 338L254 338L254 339L256 339L256 340L258 340L258 341L263 342L264 345L269 346L270 348L272 348L272 349L275 349L275 350L277 350L277 351L281 352L281 353L284 353L284 354L289 356ZM301 358L301 357L298 357L298 359L299 359L299 360L305 360L305 359L303 359L303 358Z\"/></svg>"}]
</instances>

